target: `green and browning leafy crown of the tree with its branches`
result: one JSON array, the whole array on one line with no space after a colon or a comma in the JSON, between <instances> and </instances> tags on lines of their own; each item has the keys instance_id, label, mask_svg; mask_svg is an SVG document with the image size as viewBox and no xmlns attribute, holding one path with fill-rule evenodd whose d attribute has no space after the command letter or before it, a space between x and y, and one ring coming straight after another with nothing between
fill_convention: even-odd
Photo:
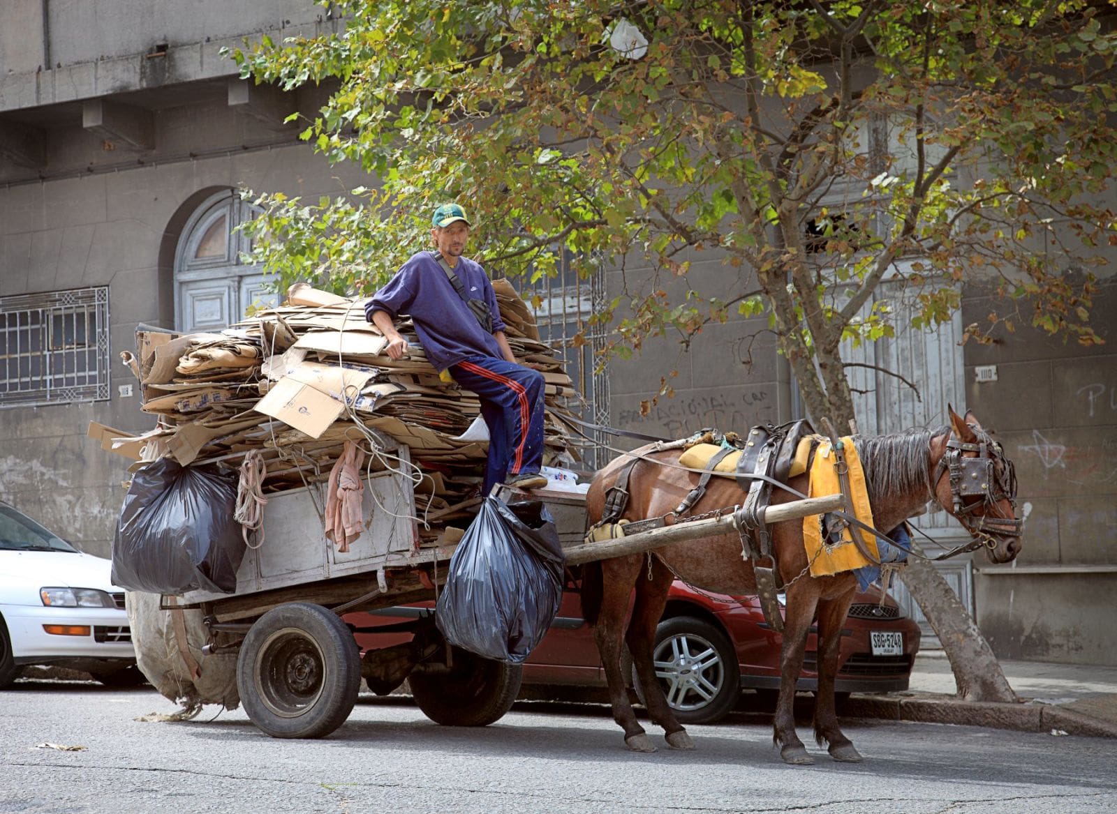
<instances>
[{"instance_id":1,"label":"green and browning leafy crown of the tree with its branches","mask_svg":"<svg viewBox=\"0 0 1117 814\"><path fill-rule=\"evenodd\" d=\"M652 285L594 315L615 342L763 308L809 410L839 420L841 341L895 327L867 310L885 280L911 287L920 325L981 278L1098 342L1090 267L1117 243L1108 3L327 4L341 33L233 54L258 82L328 83L303 137L375 179L259 195L256 259L284 281L367 291L457 200L490 270L547 275L561 249L583 274L641 268ZM726 285L668 301L704 256Z\"/></svg>"}]
</instances>

